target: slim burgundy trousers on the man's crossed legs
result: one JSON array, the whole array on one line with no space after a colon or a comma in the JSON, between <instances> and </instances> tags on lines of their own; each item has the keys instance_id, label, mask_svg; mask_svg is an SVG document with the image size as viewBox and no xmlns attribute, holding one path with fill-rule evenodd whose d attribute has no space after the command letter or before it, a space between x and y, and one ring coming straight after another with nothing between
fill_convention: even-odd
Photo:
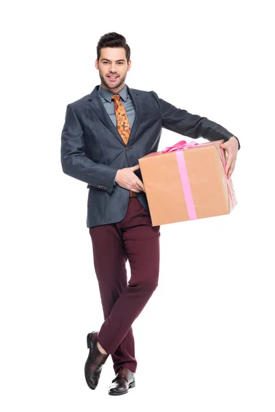
<instances>
[{"instance_id":1,"label":"slim burgundy trousers on the man's crossed legs","mask_svg":"<svg viewBox=\"0 0 275 412\"><path fill-rule=\"evenodd\" d=\"M98 342L111 354L115 374L120 367L135 372L131 325L158 284L159 226L152 227L150 215L132 197L123 220L89 227L89 233L104 314ZM131 268L128 283L127 260Z\"/></svg>"}]
</instances>

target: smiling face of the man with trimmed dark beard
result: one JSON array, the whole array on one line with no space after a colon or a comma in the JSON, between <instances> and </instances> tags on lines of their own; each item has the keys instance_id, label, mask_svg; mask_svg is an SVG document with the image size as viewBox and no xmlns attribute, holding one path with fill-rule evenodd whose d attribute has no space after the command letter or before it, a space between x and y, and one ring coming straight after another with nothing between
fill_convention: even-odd
<instances>
[{"instance_id":1,"label":"smiling face of the man with trimmed dark beard","mask_svg":"<svg viewBox=\"0 0 275 412\"><path fill-rule=\"evenodd\" d=\"M131 60L127 65L123 47L103 47L100 50L100 60L96 59L96 69L99 70L102 87L114 93L125 86L124 81L130 68ZM111 78L111 75L115 78Z\"/></svg>"}]
</instances>

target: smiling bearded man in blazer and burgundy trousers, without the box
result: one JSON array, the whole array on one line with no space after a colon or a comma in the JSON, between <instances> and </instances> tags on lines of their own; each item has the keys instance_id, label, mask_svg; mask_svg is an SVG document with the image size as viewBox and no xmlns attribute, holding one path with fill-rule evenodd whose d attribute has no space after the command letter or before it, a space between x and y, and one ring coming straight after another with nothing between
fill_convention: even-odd
<instances>
[{"instance_id":1,"label":"smiling bearded man in blazer and burgundy trousers, without the box","mask_svg":"<svg viewBox=\"0 0 275 412\"><path fill-rule=\"evenodd\" d=\"M157 152L162 128L193 139L224 139L225 173L230 177L240 145L232 133L206 117L176 108L155 91L127 87L131 60L124 36L102 36L95 65L100 85L67 105L61 163L63 172L88 183L87 227L104 313L99 332L87 335L85 378L89 388L96 389L111 354L115 378L109 394L121 395L135 386L131 325L157 287L159 275L159 226L152 227L138 159Z\"/></svg>"}]
</instances>

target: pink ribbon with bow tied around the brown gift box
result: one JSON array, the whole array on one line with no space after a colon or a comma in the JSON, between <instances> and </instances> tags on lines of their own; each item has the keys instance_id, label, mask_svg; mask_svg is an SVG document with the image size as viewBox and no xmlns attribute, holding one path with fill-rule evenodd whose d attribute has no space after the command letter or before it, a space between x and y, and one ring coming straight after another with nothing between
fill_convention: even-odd
<instances>
[{"instance_id":1,"label":"pink ribbon with bow tied around the brown gift box","mask_svg":"<svg viewBox=\"0 0 275 412\"><path fill-rule=\"evenodd\" d=\"M193 197L192 197L190 182L189 182L189 179L188 179L186 162L185 162L185 159L184 159L184 149L188 149L188 148L191 148L193 146L203 146L203 145L209 145L209 144L217 144L217 142L216 141L210 141L210 142L199 144L199 143L195 143L195 141L190 141L189 143L187 143L185 140L181 140L181 141L178 141L173 146L169 146L167 148L164 148L164 150L161 150L160 152L148 153L148 155L146 155L146 156L158 155L159 153L168 153L168 152L176 151L177 165L179 167L179 174L180 174L180 178L181 178L181 186L182 186L182 189L184 191L184 198L185 198L185 201L186 201L187 212L188 212L188 216L189 216L190 220L197 219L197 214L196 214L194 200L193 200ZM225 157L224 157L224 154L223 154L223 149L221 147L220 147L220 149L221 149L221 158L222 158L222 161L223 161L223 170L225 172L225 165L226 165L225 164ZM232 190L231 190L231 186L230 186L230 182L229 182L227 174L225 174L225 178L226 178L226 183L228 185L232 205L234 207L235 206L234 197L232 195Z\"/></svg>"}]
</instances>

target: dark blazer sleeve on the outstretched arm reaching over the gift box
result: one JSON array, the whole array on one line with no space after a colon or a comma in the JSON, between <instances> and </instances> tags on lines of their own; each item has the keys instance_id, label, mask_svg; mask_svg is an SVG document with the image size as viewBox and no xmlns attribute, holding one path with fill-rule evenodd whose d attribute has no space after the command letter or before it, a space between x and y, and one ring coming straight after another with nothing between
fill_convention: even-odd
<instances>
[{"instance_id":1,"label":"dark blazer sleeve on the outstretched arm reaching over the gift box","mask_svg":"<svg viewBox=\"0 0 275 412\"><path fill-rule=\"evenodd\" d=\"M203 137L208 141L221 140L228 141L230 137L236 137L225 129L220 124L212 122L207 117L200 117L199 115L192 115L186 110L177 108L160 99L155 91L152 91L155 96L161 113L162 113L162 127L168 130L172 130L180 135L192 137L192 139L197 139L198 137ZM239 139L236 137L239 144L239 149L241 148Z\"/></svg>"}]
</instances>

